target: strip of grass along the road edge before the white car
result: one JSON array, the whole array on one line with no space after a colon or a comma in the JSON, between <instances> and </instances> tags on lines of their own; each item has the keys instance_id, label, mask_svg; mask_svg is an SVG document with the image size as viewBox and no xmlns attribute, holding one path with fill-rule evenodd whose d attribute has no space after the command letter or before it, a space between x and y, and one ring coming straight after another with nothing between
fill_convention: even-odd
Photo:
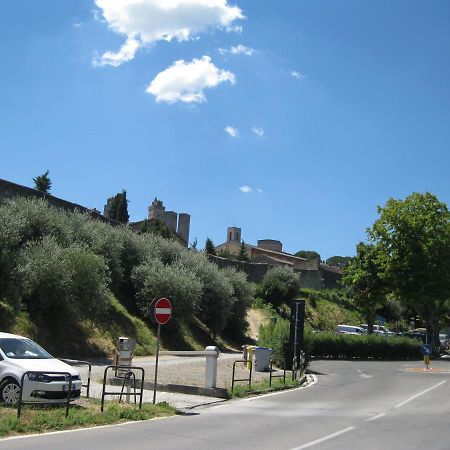
<instances>
[{"instance_id":1,"label":"strip of grass along the road edge before the white car","mask_svg":"<svg viewBox=\"0 0 450 450\"><path fill-rule=\"evenodd\" d=\"M148 420L174 414L176 410L166 402L156 405L144 403L142 409L134 405L108 402L102 413L100 400L82 399L71 405L68 417L65 417L64 406L30 407L25 405L22 416L18 419L15 408L0 406L0 437Z\"/></svg>"}]
</instances>

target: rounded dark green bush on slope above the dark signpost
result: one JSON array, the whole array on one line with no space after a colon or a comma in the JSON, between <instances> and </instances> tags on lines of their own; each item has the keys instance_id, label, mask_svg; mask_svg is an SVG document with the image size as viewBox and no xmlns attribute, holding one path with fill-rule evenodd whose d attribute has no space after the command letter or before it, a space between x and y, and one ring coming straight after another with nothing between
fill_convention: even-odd
<instances>
[{"instance_id":1,"label":"rounded dark green bush on slope above the dark signpost","mask_svg":"<svg viewBox=\"0 0 450 450\"><path fill-rule=\"evenodd\" d=\"M289 303L300 292L300 277L291 268L277 266L264 276L259 289L259 296L273 306Z\"/></svg>"}]
</instances>

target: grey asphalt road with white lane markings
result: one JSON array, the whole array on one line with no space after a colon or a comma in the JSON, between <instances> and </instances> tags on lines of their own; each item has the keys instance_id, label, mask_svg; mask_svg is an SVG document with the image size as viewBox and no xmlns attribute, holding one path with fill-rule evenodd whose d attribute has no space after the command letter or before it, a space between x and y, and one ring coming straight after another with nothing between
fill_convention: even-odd
<instances>
[{"instance_id":1,"label":"grey asphalt road with white lane markings","mask_svg":"<svg viewBox=\"0 0 450 450\"><path fill-rule=\"evenodd\" d=\"M317 361L305 389L192 415L0 440L0 449L450 449L450 361Z\"/></svg>"}]
</instances>

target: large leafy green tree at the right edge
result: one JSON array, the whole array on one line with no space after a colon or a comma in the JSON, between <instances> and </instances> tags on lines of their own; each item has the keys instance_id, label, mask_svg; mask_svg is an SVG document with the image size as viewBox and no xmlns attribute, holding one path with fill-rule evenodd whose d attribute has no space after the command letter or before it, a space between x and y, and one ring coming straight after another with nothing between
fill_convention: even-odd
<instances>
[{"instance_id":1,"label":"large leafy green tree at the right edge","mask_svg":"<svg viewBox=\"0 0 450 450\"><path fill-rule=\"evenodd\" d=\"M368 230L393 294L424 319L434 346L450 309L450 212L430 193L390 199Z\"/></svg>"}]
</instances>

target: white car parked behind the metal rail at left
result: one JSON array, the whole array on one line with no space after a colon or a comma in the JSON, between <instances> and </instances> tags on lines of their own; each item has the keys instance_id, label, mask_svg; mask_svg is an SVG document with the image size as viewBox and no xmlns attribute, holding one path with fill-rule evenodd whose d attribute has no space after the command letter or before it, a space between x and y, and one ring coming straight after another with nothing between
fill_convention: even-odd
<instances>
[{"instance_id":1,"label":"white car parked behind the metal rail at left","mask_svg":"<svg viewBox=\"0 0 450 450\"><path fill-rule=\"evenodd\" d=\"M80 397L81 377L72 366L47 353L36 342L23 336L0 333L0 402L14 405L19 401L20 382L25 376L22 399L25 402L64 403L69 377L72 377L71 399Z\"/></svg>"}]
</instances>

